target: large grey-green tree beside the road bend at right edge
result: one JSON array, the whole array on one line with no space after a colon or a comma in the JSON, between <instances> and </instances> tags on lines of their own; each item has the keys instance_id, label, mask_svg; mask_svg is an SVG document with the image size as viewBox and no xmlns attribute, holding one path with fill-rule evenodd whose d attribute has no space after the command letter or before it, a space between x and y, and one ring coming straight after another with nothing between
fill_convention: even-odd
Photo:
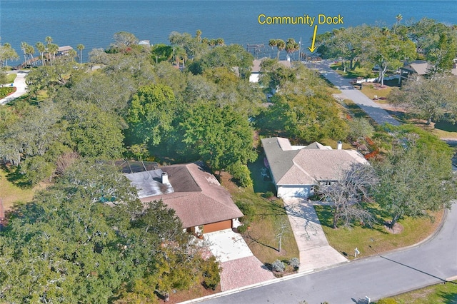
<instances>
[{"instance_id":1,"label":"large grey-green tree beside the road bend at right edge","mask_svg":"<svg viewBox=\"0 0 457 304\"><path fill-rule=\"evenodd\" d=\"M403 216L428 216L451 206L456 196L453 149L436 136L412 126L389 130L393 149L375 168L376 202L391 215L391 226Z\"/></svg>"}]
</instances>

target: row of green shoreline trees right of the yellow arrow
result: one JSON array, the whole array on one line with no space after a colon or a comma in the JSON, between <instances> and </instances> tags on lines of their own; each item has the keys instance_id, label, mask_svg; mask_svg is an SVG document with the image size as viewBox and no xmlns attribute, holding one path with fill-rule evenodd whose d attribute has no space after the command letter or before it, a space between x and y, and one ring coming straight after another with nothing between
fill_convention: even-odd
<instances>
[{"instance_id":1,"label":"row of green shoreline trees right of the yellow arrow","mask_svg":"<svg viewBox=\"0 0 457 304\"><path fill-rule=\"evenodd\" d=\"M396 71L404 61L427 59L431 74L436 74L449 71L457 55L456 29L427 18L408 26L397 21L393 29L365 24L334 29L316 41L324 58L348 60L349 69L355 67L354 61L368 69L377 66L381 83L386 71Z\"/></svg>"}]
</instances>

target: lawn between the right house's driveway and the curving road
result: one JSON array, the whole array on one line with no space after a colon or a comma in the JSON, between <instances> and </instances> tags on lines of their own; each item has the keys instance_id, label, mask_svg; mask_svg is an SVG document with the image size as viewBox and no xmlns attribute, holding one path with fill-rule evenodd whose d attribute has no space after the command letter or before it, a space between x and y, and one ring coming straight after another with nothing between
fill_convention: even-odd
<instances>
[{"instance_id":1,"label":"lawn between the right house's driveway and the curving road","mask_svg":"<svg viewBox=\"0 0 457 304\"><path fill-rule=\"evenodd\" d=\"M333 221L331 207L315 207L328 243L348 259L354 258L354 248L358 248L360 251L359 256L363 258L368 255L376 255L388 250L416 244L427 238L438 228L443 216L442 211L432 213L432 216L436 218L434 222L431 222L428 218L403 218L399 221L403 231L393 234L383 225L383 222L389 219L388 216L381 213L377 206L371 205L369 208L378 218L373 228L356 224L352 228L333 229L331 228Z\"/></svg>"}]
</instances>

